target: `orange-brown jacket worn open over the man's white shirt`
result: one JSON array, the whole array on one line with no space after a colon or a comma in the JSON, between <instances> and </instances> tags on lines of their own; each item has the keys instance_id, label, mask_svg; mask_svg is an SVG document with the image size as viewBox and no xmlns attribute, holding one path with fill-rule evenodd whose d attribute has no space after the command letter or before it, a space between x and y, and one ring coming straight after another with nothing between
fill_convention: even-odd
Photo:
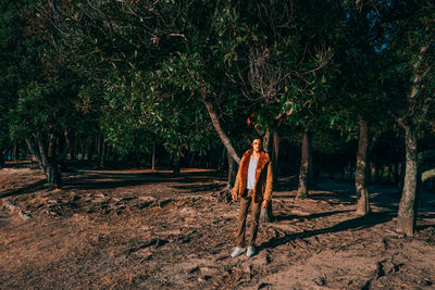
<instances>
[{"instance_id":1,"label":"orange-brown jacket worn open over the man's white shirt","mask_svg":"<svg viewBox=\"0 0 435 290\"><path fill-rule=\"evenodd\" d=\"M234 184L233 193L240 197L246 189L248 180L249 160L252 154L252 149L245 152L240 161L240 166L237 172L236 182ZM264 151L260 152L260 157L257 163L256 169L256 186L253 188L252 199L254 202L262 202L263 200L272 200L272 182L273 171L272 162L269 154Z\"/></svg>"}]
</instances>

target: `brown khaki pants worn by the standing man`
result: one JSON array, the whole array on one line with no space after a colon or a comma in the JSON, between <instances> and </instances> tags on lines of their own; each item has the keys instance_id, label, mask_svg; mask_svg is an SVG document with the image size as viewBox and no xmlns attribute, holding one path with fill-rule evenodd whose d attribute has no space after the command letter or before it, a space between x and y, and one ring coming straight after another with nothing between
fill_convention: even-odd
<instances>
[{"instance_id":1,"label":"brown khaki pants worn by the standing man","mask_svg":"<svg viewBox=\"0 0 435 290\"><path fill-rule=\"evenodd\" d=\"M257 231L260 219L261 203L252 201L252 190L249 189L247 194L241 194L240 198L240 212L238 215L238 227L237 227L237 247L245 248L245 231L246 231L246 217L248 216L249 205L252 203L251 213L251 230L249 236L248 245L253 245L257 238Z\"/></svg>"}]
</instances>

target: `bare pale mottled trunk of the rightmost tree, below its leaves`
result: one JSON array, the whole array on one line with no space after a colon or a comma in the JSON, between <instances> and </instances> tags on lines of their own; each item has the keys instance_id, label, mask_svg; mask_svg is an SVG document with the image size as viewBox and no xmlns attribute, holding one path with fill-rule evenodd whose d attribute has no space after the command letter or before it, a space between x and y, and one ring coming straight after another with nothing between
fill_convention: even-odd
<instances>
[{"instance_id":1,"label":"bare pale mottled trunk of the rightmost tree, below its leaves","mask_svg":"<svg viewBox=\"0 0 435 290\"><path fill-rule=\"evenodd\" d=\"M417 133L412 125L403 125L406 168L403 191L397 216L397 230L408 236L415 231L417 222L417 193L418 193L418 155L417 155Z\"/></svg>"}]
</instances>

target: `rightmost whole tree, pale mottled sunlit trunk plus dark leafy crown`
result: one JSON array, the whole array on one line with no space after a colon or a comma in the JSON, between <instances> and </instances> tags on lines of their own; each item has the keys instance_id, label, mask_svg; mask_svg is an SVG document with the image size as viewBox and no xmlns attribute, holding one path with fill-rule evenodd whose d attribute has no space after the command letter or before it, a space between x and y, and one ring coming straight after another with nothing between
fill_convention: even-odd
<instances>
[{"instance_id":1,"label":"rightmost whole tree, pale mottled sunlit trunk plus dark leafy crown","mask_svg":"<svg viewBox=\"0 0 435 290\"><path fill-rule=\"evenodd\" d=\"M391 60L387 84L397 98L393 116L405 131L406 172L397 230L413 235L421 178L418 134L434 104L435 7L430 1L398 2L384 10L385 53ZM396 86L396 87L393 87Z\"/></svg>"}]
</instances>

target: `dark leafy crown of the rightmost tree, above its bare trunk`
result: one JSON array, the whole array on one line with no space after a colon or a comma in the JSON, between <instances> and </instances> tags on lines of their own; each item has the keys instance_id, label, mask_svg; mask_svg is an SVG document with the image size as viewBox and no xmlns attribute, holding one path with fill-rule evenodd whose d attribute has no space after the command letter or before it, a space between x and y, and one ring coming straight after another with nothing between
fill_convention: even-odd
<instances>
[{"instance_id":1,"label":"dark leafy crown of the rightmost tree, above its bare trunk","mask_svg":"<svg viewBox=\"0 0 435 290\"><path fill-rule=\"evenodd\" d=\"M397 119L413 118L423 124L431 116L435 103L435 5L431 1L394 3L383 13L387 17L383 54L388 59L383 80L388 93L395 98ZM420 126L420 125L419 125Z\"/></svg>"}]
</instances>

